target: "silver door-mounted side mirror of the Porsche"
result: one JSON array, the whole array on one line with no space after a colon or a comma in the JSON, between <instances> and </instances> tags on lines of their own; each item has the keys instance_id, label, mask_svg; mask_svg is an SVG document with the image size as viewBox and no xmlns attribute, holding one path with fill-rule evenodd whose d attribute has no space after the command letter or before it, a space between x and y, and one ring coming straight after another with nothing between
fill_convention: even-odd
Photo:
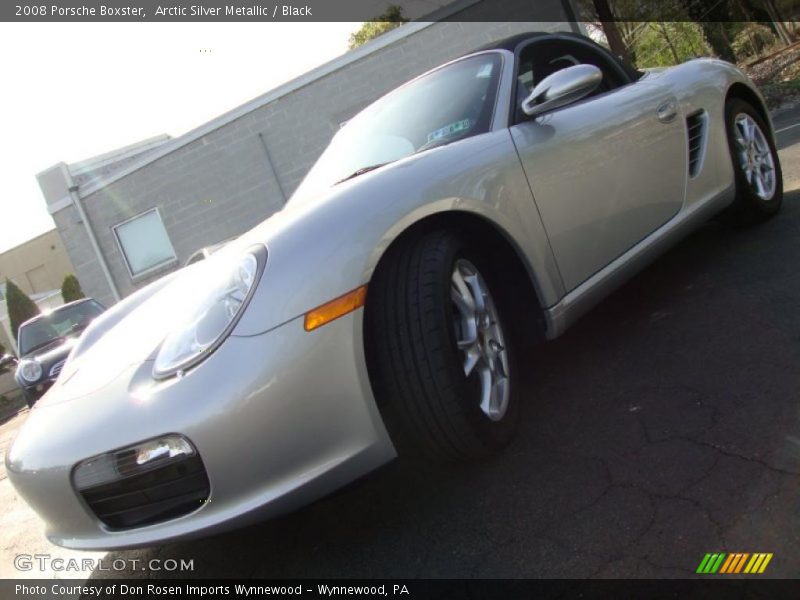
<instances>
[{"instance_id":1,"label":"silver door-mounted side mirror of the Porsche","mask_svg":"<svg viewBox=\"0 0 800 600\"><path fill-rule=\"evenodd\" d=\"M522 101L522 112L537 117L547 111L565 106L591 94L600 82L603 72L594 65L575 65L556 71L542 79L531 95Z\"/></svg>"}]
</instances>

